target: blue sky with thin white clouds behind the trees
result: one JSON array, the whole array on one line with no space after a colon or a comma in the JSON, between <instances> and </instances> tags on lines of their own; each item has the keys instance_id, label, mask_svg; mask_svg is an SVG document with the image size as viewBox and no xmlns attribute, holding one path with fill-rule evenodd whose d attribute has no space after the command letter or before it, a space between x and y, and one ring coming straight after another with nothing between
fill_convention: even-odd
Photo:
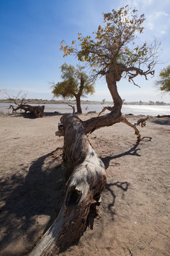
<instances>
[{"instance_id":1,"label":"blue sky with thin white clouds behind the trees","mask_svg":"<svg viewBox=\"0 0 170 256\"><path fill-rule=\"evenodd\" d=\"M159 64L154 78L137 78L136 87L128 80L118 82L120 97L126 102L170 102L170 94L155 87L162 68L170 65L170 1L169 0L0 0L0 99L18 92L27 98L51 100L51 82L61 81L63 63L77 65L74 56L63 58L60 42L71 45L77 34L91 36L103 23L103 13L129 4L138 14L145 14L145 30L141 42L162 41ZM95 94L86 100L111 100L106 80L96 80ZM61 100L62 98L58 98ZM56 99L57 100L57 99Z\"/></svg>"}]
</instances>

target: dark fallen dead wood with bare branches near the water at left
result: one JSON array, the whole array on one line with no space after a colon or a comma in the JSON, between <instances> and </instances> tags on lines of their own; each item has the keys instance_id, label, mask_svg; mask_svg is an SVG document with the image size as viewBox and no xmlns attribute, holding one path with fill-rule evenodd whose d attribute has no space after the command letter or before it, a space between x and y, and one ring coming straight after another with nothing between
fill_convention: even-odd
<instances>
[{"instance_id":1,"label":"dark fallen dead wood with bare branches near the water at left","mask_svg":"<svg viewBox=\"0 0 170 256\"><path fill-rule=\"evenodd\" d=\"M26 112L30 112L34 115L34 117L44 117L44 109L45 106L30 106L27 104L19 104L18 107L13 107L13 105L10 105L9 109L12 108L13 112L16 112L17 110L24 110Z\"/></svg>"}]
</instances>

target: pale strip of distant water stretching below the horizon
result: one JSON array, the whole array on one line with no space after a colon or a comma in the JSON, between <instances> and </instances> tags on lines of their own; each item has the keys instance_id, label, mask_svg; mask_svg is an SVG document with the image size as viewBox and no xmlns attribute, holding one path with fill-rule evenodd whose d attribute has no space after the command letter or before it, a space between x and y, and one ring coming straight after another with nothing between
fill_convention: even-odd
<instances>
[{"instance_id":1,"label":"pale strip of distant water stretching below the horizon","mask_svg":"<svg viewBox=\"0 0 170 256\"><path fill-rule=\"evenodd\" d=\"M38 105L38 104L30 104ZM41 104L43 105L43 104ZM87 113L89 111L101 112L103 107L107 105L81 105L82 112ZM12 110L8 110L8 103L0 103L0 112L11 113ZM75 106L76 107L76 106ZM72 108L65 104L45 104L45 112L61 112L61 113L72 113ZM106 113L108 110L106 111ZM170 105L123 105L122 107L123 114L145 114L150 116L157 116L158 114L170 114Z\"/></svg>"}]
</instances>

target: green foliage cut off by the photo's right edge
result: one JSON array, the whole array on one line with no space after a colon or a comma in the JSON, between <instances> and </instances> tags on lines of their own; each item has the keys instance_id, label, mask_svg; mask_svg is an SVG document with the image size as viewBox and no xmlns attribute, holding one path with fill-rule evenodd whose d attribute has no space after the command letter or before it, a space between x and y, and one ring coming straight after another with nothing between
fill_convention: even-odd
<instances>
[{"instance_id":1,"label":"green foliage cut off by the photo's right edge","mask_svg":"<svg viewBox=\"0 0 170 256\"><path fill-rule=\"evenodd\" d=\"M170 92L170 65L161 70L156 84L162 92Z\"/></svg>"}]
</instances>

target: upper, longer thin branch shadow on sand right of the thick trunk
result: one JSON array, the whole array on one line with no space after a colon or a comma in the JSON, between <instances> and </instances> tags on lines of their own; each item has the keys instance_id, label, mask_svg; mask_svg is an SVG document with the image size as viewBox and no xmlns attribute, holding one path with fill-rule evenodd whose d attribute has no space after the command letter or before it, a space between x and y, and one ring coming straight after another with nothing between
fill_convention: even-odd
<instances>
[{"instance_id":1,"label":"upper, longer thin branch shadow on sand right of the thick trunk","mask_svg":"<svg viewBox=\"0 0 170 256\"><path fill-rule=\"evenodd\" d=\"M121 154L118 154L118 155L115 155L115 156L105 156L105 157L100 157L101 158L101 161L103 161L106 169L108 169L108 166L109 166L109 162L112 160L112 159L117 159L117 158L120 158L122 156L127 156L127 155L130 155L130 156L141 156L138 151L140 151L140 149L137 149L137 146L140 144L140 142L136 142L136 144L128 151L125 151L124 153L121 153Z\"/></svg>"}]
</instances>

